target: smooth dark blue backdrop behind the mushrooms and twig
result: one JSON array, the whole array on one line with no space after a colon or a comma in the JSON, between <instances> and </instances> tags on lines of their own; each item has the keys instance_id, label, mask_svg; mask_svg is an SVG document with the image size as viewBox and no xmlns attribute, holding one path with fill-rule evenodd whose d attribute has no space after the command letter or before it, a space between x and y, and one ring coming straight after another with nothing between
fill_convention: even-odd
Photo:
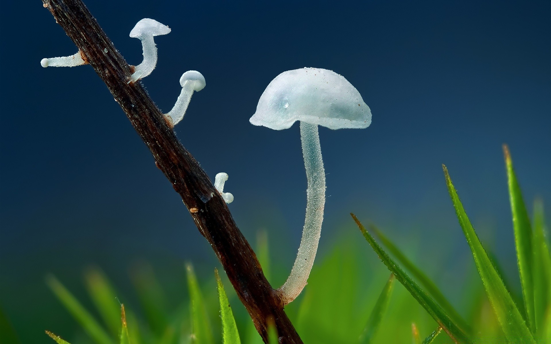
<instances>
[{"instance_id":1,"label":"smooth dark blue backdrop behind the mushrooms and twig","mask_svg":"<svg viewBox=\"0 0 551 344\"><path fill-rule=\"evenodd\" d=\"M320 129L322 252L354 231L353 211L419 247L429 268L469 261L445 163L479 236L516 281L501 144L530 208L536 196L551 202L549 1L86 3L131 64L142 61L128 37L138 20L170 26L143 85L168 112L181 74L204 75L176 133L209 176L229 174L237 223L251 241L267 228L284 269L306 204L299 129L254 127L249 117L279 73L318 67L347 78L373 114L367 129ZM40 67L76 51L48 10L6 2L0 15L0 302L15 326L29 319L40 332L56 324L49 314L63 314L47 272L74 288L92 262L123 285L139 259L191 260L210 274L212 250L93 69ZM439 244L427 252L422 242Z\"/></svg>"}]
</instances>

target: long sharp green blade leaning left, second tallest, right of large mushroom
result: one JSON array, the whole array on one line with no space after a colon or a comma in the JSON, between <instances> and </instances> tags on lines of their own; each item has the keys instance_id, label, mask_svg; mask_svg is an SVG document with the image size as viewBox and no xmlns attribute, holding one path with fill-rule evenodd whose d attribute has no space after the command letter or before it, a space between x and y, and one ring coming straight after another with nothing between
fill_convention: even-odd
<instances>
[{"instance_id":1,"label":"long sharp green blade leaning left, second tallest, right of large mushroom","mask_svg":"<svg viewBox=\"0 0 551 344\"><path fill-rule=\"evenodd\" d=\"M453 187L446 166L442 165L442 168L444 168L446 185L450 193L453 208L455 208L457 214L457 219L459 220L463 234L467 238L467 243L471 247L478 274L480 275L480 279L482 279L488 299L498 318L501 329L511 342L536 343L532 333L525 324L525 320L511 298L511 294L505 288L501 277L491 264L491 260L488 258L488 254L484 250L482 243L480 243L477 233L474 231L459 196Z\"/></svg>"}]
</instances>

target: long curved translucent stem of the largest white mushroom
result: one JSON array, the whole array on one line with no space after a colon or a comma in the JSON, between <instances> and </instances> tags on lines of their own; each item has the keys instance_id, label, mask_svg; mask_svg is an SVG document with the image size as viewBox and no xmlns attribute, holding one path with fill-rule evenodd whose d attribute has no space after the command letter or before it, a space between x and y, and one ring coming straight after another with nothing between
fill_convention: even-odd
<instances>
[{"instance_id":1,"label":"long curved translucent stem of the largest white mushroom","mask_svg":"<svg viewBox=\"0 0 551 344\"><path fill-rule=\"evenodd\" d=\"M283 304L289 304L306 286L316 258L320 241L323 207L325 206L325 170L320 149L317 124L300 122L300 139L308 188L306 190L306 219L299 252L287 281L277 291Z\"/></svg>"}]
</instances>

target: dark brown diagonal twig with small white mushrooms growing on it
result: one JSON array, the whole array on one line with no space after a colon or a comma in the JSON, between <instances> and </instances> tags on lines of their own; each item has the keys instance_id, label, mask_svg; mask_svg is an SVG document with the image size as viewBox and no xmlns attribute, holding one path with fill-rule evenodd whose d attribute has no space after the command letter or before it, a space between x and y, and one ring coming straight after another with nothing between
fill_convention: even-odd
<instances>
[{"instance_id":1,"label":"dark brown diagonal twig with small white mushrooms growing on it","mask_svg":"<svg viewBox=\"0 0 551 344\"><path fill-rule=\"evenodd\" d=\"M141 84L127 83L130 67L98 22L80 0L43 2L82 52L85 61L105 82L151 150L157 167L182 197L264 342L267 342L267 323L273 321L280 343L302 343L283 310L281 300L264 277L255 252L235 225L228 206L197 161L177 140Z\"/></svg>"}]
</instances>

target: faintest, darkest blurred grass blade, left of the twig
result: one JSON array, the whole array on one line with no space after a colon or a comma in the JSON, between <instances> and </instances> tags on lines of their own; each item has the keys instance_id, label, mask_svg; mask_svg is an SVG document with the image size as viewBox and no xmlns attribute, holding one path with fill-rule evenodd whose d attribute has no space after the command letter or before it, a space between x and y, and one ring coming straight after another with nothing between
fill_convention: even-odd
<instances>
[{"instance_id":1,"label":"faintest, darkest blurred grass blade, left of the twig","mask_svg":"<svg viewBox=\"0 0 551 344\"><path fill-rule=\"evenodd\" d=\"M138 299L144 310L147 323L156 337L164 334L169 325L166 297L157 280L153 268L142 264L132 271L132 281L138 293Z\"/></svg>"}]
</instances>

